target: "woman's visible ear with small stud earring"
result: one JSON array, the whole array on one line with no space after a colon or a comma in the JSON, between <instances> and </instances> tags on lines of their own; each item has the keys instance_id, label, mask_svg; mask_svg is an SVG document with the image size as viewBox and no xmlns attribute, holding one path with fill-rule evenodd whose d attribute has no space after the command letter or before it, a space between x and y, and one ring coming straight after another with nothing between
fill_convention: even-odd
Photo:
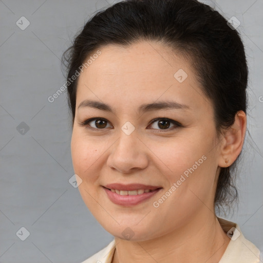
<instances>
[{"instance_id":1,"label":"woman's visible ear with small stud earring","mask_svg":"<svg viewBox=\"0 0 263 263\"><path fill-rule=\"evenodd\" d=\"M226 130L221 143L221 154L218 160L219 167L230 166L241 152L247 129L247 116L239 110L234 124Z\"/></svg>"}]
</instances>

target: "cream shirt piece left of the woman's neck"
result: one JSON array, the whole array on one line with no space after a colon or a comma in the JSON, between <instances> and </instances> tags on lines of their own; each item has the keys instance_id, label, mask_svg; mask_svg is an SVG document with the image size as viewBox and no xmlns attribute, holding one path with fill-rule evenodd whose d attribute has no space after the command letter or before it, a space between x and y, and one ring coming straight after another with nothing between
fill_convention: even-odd
<instances>
[{"instance_id":1,"label":"cream shirt piece left of the woman's neck","mask_svg":"<svg viewBox=\"0 0 263 263\"><path fill-rule=\"evenodd\" d=\"M96 254L92 255L88 259L82 261L81 263L111 263L114 251L115 251L115 239L112 240L107 245L107 247L100 250Z\"/></svg>"}]
</instances>

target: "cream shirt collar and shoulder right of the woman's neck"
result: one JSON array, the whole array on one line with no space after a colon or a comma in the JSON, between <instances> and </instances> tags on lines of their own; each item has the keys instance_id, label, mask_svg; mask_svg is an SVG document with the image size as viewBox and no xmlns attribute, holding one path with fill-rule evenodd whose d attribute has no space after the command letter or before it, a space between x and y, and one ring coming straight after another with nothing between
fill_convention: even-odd
<instances>
[{"instance_id":1,"label":"cream shirt collar and shoulder right of the woman's neck","mask_svg":"<svg viewBox=\"0 0 263 263\"><path fill-rule=\"evenodd\" d=\"M219 263L257 263L260 262L259 249L243 236L238 224L218 218L224 232L231 239Z\"/></svg>"}]
</instances>

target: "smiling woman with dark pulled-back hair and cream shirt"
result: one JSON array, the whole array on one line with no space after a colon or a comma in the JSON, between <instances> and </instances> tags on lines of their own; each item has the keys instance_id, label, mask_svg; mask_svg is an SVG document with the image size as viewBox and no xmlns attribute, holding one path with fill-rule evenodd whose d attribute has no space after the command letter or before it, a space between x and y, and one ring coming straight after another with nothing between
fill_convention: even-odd
<instances>
[{"instance_id":1,"label":"smiling woman with dark pulled-back hair and cream shirt","mask_svg":"<svg viewBox=\"0 0 263 263\"><path fill-rule=\"evenodd\" d=\"M79 191L115 237L84 262L259 262L215 213L237 196L247 124L233 25L195 0L123 1L93 16L65 58Z\"/></svg>"}]
</instances>

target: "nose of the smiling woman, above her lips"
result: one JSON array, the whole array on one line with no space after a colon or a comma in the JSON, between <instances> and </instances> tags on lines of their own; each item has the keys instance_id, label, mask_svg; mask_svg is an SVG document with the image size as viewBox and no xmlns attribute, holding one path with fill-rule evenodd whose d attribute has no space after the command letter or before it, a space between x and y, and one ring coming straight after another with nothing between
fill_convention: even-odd
<instances>
[{"instance_id":1,"label":"nose of the smiling woman, above her lips","mask_svg":"<svg viewBox=\"0 0 263 263\"><path fill-rule=\"evenodd\" d=\"M129 135L121 130L119 139L110 149L107 165L120 173L129 174L148 165L149 149L138 138L136 130Z\"/></svg>"}]
</instances>

